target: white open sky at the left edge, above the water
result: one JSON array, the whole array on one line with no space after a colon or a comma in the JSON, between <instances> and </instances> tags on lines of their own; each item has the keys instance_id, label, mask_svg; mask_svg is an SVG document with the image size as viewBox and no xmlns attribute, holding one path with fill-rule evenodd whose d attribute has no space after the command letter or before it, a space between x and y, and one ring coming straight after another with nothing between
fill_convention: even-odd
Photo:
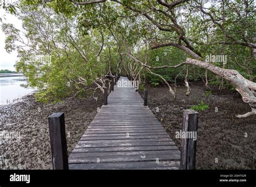
<instances>
[{"instance_id":1,"label":"white open sky at the left edge, above the water","mask_svg":"<svg viewBox=\"0 0 256 187\"><path fill-rule=\"evenodd\" d=\"M22 30L22 22L18 20L14 15L10 15L6 13L3 9L0 9L0 17L3 19L4 23L11 23L14 24L16 28ZM5 19L6 20L5 20ZM2 23L0 23L1 26ZM3 33L2 29L0 28L0 70L1 69L9 69L14 71L14 64L18 60L18 53L13 51L12 53L7 53L4 49L5 46L5 34Z\"/></svg>"}]
</instances>

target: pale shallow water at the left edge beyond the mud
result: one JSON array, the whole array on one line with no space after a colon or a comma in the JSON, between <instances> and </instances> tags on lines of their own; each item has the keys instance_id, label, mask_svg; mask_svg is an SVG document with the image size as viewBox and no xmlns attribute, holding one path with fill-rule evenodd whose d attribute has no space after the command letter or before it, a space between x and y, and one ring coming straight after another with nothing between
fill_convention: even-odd
<instances>
[{"instance_id":1,"label":"pale shallow water at the left edge beyond the mud","mask_svg":"<svg viewBox=\"0 0 256 187\"><path fill-rule=\"evenodd\" d=\"M36 91L32 88L21 87L21 84L26 84L25 77L22 74L14 75L0 74L0 105L12 103L15 99Z\"/></svg>"}]
</instances>

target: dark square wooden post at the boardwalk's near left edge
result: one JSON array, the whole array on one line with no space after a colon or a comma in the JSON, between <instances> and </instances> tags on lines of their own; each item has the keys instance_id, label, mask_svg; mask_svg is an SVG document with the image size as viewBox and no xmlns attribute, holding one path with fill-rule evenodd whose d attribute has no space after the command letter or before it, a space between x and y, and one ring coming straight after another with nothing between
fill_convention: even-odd
<instances>
[{"instance_id":1,"label":"dark square wooden post at the boardwalk's near left edge","mask_svg":"<svg viewBox=\"0 0 256 187\"><path fill-rule=\"evenodd\" d=\"M69 169L64 112L51 114L48 117L48 123L51 143L52 168Z\"/></svg>"}]
</instances>

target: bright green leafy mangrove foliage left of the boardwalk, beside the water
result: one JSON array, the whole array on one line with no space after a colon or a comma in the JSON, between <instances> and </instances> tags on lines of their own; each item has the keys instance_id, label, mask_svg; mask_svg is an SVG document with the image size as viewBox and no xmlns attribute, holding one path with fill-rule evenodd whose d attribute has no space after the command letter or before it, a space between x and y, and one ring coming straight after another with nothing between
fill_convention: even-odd
<instances>
[{"instance_id":1,"label":"bright green leafy mangrove foliage left of the boardwalk, beside the water","mask_svg":"<svg viewBox=\"0 0 256 187\"><path fill-rule=\"evenodd\" d=\"M98 54L101 41L98 30L78 36L75 17L57 15L50 8L38 8L35 13L24 6L19 16L31 43L21 47L26 43L19 37L19 31L11 24L3 24L7 35L5 48L9 52L18 49L20 60L16 70L28 78L27 87L38 90L38 101L59 102L72 95L84 96L93 82L106 73L109 51L103 49Z\"/></svg>"}]
</instances>

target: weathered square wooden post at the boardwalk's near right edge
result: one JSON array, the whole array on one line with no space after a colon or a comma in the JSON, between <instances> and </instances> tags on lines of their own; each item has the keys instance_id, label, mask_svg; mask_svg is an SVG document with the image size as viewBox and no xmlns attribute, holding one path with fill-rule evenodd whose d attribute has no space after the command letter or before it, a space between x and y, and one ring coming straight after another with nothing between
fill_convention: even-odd
<instances>
[{"instance_id":1,"label":"weathered square wooden post at the boardwalk's near right edge","mask_svg":"<svg viewBox=\"0 0 256 187\"><path fill-rule=\"evenodd\" d=\"M196 168L197 124L198 112L191 109L184 110L182 133L186 134L186 138L181 139L181 169Z\"/></svg>"}]
</instances>

